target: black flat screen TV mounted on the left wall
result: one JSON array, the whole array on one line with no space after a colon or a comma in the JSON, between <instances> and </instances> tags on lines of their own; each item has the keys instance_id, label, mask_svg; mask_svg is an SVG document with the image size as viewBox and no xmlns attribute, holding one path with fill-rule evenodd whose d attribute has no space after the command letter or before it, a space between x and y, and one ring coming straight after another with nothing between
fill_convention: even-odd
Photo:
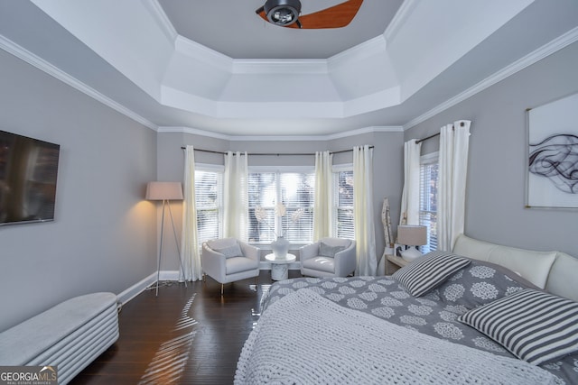
<instances>
[{"instance_id":1,"label":"black flat screen TV mounted on the left wall","mask_svg":"<svg viewBox=\"0 0 578 385\"><path fill-rule=\"evenodd\" d=\"M54 220L61 146L0 131L0 226Z\"/></svg>"}]
</instances>

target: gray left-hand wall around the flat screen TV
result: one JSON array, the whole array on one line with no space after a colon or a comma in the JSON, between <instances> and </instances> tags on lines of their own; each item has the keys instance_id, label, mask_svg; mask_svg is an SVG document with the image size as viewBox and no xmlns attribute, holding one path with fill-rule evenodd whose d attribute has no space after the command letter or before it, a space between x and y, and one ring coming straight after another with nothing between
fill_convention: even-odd
<instances>
[{"instance_id":1,"label":"gray left-hand wall around the flat screen TV","mask_svg":"<svg viewBox=\"0 0 578 385\"><path fill-rule=\"evenodd\" d=\"M56 219L0 227L0 331L156 271L156 133L0 50L0 130L61 145Z\"/></svg>"}]
</instances>

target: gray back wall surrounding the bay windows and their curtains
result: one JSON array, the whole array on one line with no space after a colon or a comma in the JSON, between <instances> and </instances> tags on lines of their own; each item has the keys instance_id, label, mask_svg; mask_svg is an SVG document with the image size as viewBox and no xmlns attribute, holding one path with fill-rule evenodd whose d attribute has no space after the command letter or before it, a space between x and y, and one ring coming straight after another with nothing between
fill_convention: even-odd
<instances>
[{"instance_id":1,"label":"gray back wall surrounding the bay windows and their curtains","mask_svg":"<svg viewBox=\"0 0 578 385\"><path fill-rule=\"evenodd\" d=\"M159 133L158 135L158 177L159 180L181 181L183 174L183 145L211 151L247 151L249 153L314 153L315 151L349 150L357 145L374 145L374 215L376 248L378 258L384 250L381 206L384 197L389 197L392 222L396 226L403 184L403 133L364 133L328 141L227 141L190 133ZM223 156L201 151L195 152L196 163L224 163ZM314 156L249 156L249 166L314 166ZM336 154L333 164L353 163L352 152ZM172 206L175 225L181 229L182 211L180 205ZM180 231L180 230L179 230ZM166 252L177 255L174 242L166 244ZM164 245L163 245L164 248ZM177 270L178 260L168 257L163 260L162 270Z\"/></svg>"}]
</instances>

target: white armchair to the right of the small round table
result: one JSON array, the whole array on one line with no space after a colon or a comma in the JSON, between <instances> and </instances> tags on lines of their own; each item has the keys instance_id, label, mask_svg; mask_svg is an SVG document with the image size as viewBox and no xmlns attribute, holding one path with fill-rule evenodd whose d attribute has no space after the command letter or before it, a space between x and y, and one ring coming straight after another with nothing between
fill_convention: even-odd
<instances>
[{"instance_id":1,"label":"white armchair to the right of the small round table","mask_svg":"<svg viewBox=\"0 0 578 385\"><path fill-rule=\"evenodd\" d=\"M301 273L311 277L347 277L357 266L356 243L350 239L322 238L299 249Z\"/></svg>"}]
</instances>

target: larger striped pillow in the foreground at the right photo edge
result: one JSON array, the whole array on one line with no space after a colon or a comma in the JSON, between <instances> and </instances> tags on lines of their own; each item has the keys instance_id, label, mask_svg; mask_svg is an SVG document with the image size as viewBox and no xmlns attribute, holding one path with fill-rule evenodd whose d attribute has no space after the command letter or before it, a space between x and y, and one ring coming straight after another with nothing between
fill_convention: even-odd
<instances>
[{"instance_id":1,"label":"larger striped pillow in the foreground at the right photo edge","mask_svg":"<svg viewBox=\"0 0 578 385\"><path fill-rule=\"evenodd\" d=\"M518 291L458 320L535 365L578 351L578 302L543 291Z\"/></svg>"}]
</instances>

